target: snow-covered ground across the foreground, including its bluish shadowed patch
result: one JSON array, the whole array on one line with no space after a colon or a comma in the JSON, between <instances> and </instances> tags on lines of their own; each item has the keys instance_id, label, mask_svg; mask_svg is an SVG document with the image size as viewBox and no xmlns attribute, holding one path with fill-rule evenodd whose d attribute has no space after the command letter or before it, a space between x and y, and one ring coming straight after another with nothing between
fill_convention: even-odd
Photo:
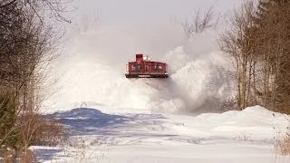
<instances>
[{"instance_id":1,"label":"snow-covered ground across the foreground, including its bluish shadowed patch","mask_svg":"<svg viewBox=\"0 0 290 163\"><path fill-rule=\"evenodd\" d=\"M290 161L273 146L290 117L259 106L196 117L128 112L95 105L53 113L70 129L69 144L34 151L43 162Z\"/></svg>"}]
</instances>

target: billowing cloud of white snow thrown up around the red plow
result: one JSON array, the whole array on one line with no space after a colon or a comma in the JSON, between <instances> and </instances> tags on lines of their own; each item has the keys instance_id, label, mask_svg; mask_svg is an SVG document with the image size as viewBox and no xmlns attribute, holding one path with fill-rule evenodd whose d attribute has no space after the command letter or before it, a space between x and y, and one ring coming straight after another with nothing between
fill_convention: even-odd
<instances>
[{"instance_id":1,"label":"billowing cloud of white snow thrown up around the red plow","mask_svg":"<svg viewBox=\"0 0 290 163\"><path fill-rule=\"evenodd\" d=\"M64 73L62 89L47 105L63 110L93 101L140 110L220 110L232 97L232 80L216 34L208 30L188 40L173 23L96 25L65 45L53 72ZM168 62L170 78L126 79L126 62L135 53Z\"/></svg>"}]
</instances>

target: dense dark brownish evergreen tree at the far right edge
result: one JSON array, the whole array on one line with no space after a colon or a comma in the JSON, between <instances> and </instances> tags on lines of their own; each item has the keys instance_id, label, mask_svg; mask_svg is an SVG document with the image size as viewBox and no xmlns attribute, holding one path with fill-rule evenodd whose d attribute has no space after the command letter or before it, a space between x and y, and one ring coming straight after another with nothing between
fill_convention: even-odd
<instances>
[{"instance_id":1,"label":"dense dark brownish evergreen tree at the far right edge","mask_svg":"<svg viewBox=\"0 0 290 163\"><path fill-rule=\"evenodd\" d=\"M261 0L253 25L257 45L255 54L265 65L263 105L283 112L290 111L289 15L290 1Z\"/></svg>"}]
</instances>

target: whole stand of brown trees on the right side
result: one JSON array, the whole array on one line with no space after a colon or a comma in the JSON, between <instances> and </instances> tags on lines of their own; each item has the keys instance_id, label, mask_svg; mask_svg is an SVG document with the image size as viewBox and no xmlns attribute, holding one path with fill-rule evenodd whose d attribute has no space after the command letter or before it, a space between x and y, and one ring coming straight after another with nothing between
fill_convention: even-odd
<instances>
[{"instance_id":1,"label":"whole stand of brown trees on the right side","mask_svg":"<svg viewBox=\"0 0 290 163\"><path fill-rule=\"evenodd\" d=\"M290 113L290 1L247 1L229 23L218 43L233 59L237 109Z\"/></svg>"}]
</instances>

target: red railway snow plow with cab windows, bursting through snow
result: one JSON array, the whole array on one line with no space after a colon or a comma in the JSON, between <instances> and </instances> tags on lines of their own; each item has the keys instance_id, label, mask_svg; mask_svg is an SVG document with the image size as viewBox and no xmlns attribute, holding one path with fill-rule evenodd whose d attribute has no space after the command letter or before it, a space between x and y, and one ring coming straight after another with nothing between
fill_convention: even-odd
<instances>
[{"instance_id":1,"label":"red railway snow plow with cab windows, bursting through snow","mask_svg":"<svg viewBox=\"0 0 290 163\"><path fill-rule=\"evenodd\" d=\"M148 56L136 54L136 61L128 62L126 78L168 78L165 62L152 62Z\"/></svg>"}]
</instances>

